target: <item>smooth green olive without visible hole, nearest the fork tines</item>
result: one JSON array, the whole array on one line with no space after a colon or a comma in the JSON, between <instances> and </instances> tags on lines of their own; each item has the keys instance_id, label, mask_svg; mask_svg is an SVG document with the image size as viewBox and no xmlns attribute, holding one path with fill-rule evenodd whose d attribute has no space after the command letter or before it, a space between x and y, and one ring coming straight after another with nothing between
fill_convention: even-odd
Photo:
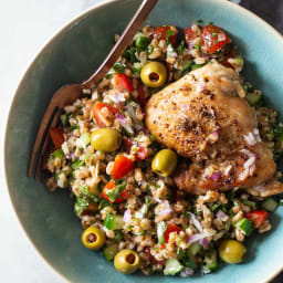
<instances>
[{"instance_id":1,"label":"smooth green olive without visible hole, nearest the fork tines","mask_svg":"<svg viewBox=\"0 0 283 283\"><path fill-rule=\"evenodd\" d=\"M98 128L91 135L92 147L96 150L112 153L119 148L120 134L114 128Z\"/></svg>"}]
</instances>

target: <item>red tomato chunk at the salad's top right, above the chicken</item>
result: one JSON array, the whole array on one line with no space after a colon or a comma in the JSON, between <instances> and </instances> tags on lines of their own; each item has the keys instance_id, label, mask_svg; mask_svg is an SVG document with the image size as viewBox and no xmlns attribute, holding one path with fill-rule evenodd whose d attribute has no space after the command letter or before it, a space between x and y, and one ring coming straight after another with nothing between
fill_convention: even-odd
<instances>
[{"instance_id":1,"label":"red tomato chunk at the salad's top right, above the chicken","mask_svg":"<svg viewBox=\"0 0 283 283\"><path fill-rule=\"evenodd\" d=\"M210 54L213 54L226 44L231 42L231 39L223 30L211 24L208 24L203 28L202 39L205 41L206 50Z\"/></svg>"}]
</instances>

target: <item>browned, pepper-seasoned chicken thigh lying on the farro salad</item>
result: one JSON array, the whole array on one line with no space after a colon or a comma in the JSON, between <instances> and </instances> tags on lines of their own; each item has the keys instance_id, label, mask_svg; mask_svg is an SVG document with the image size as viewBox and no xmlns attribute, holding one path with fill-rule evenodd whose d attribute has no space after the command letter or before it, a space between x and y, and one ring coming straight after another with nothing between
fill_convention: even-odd
<instances>
[{"instance_id":1,"label":"browned, pepper-seasoned chicken thigh lying on the farro salad","mask_svg":"<svg viewBox=\"0 0 283 283\"><path fill-rule=\"evenodd\" d=\"M274 180L273 154L261 140L256 116L243 95L238 74L211 63L148 101L148 129L185 157L175 174L179 189L203 195L243 187L264 197L283 192Z\"/></svg>"}]
</instances>

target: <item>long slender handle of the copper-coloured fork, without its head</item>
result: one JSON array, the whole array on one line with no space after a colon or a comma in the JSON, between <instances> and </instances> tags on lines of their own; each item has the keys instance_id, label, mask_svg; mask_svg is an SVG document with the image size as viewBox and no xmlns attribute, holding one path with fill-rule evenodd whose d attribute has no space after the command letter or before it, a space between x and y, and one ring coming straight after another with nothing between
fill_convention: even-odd
<instances>
[{"instance_id":1,"label":"long slender handle of the copper-coloured fork, without its head","mask_svg":"<svg viewBox=\"0 0 283 283\"><path fill-rule=\"evenodd\" d=\"M133 38L138 32L146 18L156 6L157 1L158 0L144 0L142 2L135 15L132 18L130 22L120 35L119 40L111 50L107 57L96 70L96 72L87 81L82 83L82 86L84 88L93 87L98 81L101 81L107 74L107 72L116 63L120 54L123 54L126 48L132 43Z\"/></svg>"}]
</instances>

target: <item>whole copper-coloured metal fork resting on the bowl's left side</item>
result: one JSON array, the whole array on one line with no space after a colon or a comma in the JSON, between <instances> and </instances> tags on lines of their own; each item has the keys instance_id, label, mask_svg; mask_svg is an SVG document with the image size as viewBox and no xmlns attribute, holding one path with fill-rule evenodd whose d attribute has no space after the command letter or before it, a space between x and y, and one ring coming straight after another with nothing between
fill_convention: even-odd
<instances>
[{"instance_id":1,"label":"whole copper-coloured metal fork resting on the bowl's left side","mask_svg":"<svg viewBox=\"0 0 283 283\"><path fill-rule=\"evenodd\" d=\"M97 69L97 71L85 82L81 84L67 84L62 86L52 97L44 115L34 142L32 155L29 165L29 177L40 178L42 164L50 145L50 137L48 135L50 127L56 127L60 120L62 108L75 102L83 96L83 90L93 87L101 81L114 63L118 60L125 49L132 43L134 35L155 7L158 0L144 0L133 19L126 27L117 43L114 45L107 57Z\"/></svg>"}]
</instances>

